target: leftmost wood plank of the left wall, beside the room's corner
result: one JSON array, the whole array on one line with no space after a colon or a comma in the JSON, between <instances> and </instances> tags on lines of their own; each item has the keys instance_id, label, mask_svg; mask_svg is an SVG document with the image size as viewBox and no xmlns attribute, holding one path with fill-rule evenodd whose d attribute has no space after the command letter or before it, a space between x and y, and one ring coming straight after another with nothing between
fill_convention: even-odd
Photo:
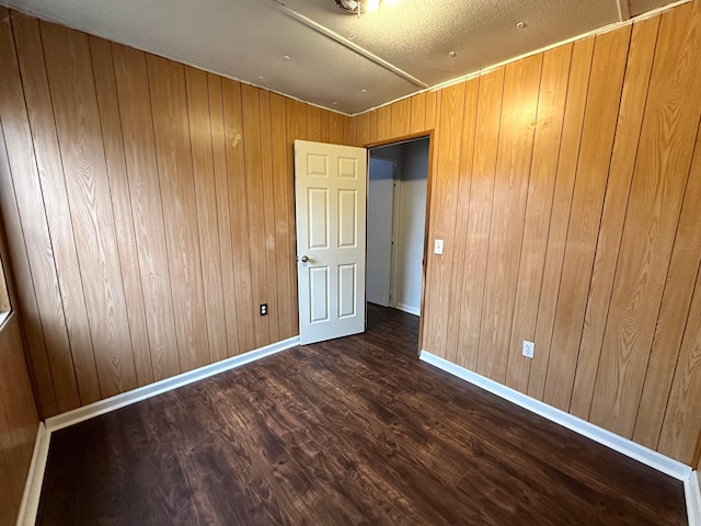
<instances>
[{"instance_id":1,"label":"leftmost wood plank of the left wall, beside the room's corner","mask_svg":"<svg viewBox=\"0 0 701 526\"><path fill-rule=\"evenodd\" d=\"M0 25L0 121L4 137L4 147L9 170L3 172L2 194L4 199L14 195L18 215L12 222L8 217L11 208L3 206L3 217L8 225L20 226L23 235L18 239L19 231L10 231L10 245L24 244L26 260L20 260L21 252L13 252L13 264L31 275L32 279L23 282L21 308L26 318L26 333L33 335L33 347L30 351L33 359L43 363L42 355L46 353L48 366L51 373L50 379L42 374L42 369L35 371L37 381L46 381L47 389L42 399L42 409L47 414L53 411L68 411L80 405L78 386L73 373L73 358L70 354L70 343L66 329L66 317L61 293L58 285L58 276L54 264L54 248L46 218L46 209L37 207L36 203L43 203L42 186L35 157L32 130L25 106L20 68L15 55L10 15L7 10L2 13ZM13 188L13 192L10 191ZM5 193L7 191L7 193ZM24 231L25 226L32 228ZM33 287L33 288L30 288ZM36 301L36 315L32 297ZM42 350L39 344L45 344ZM44 369L44 373L46 371ZM54 398L50 397L54 391Z\"/></svg>"}]
</instances>

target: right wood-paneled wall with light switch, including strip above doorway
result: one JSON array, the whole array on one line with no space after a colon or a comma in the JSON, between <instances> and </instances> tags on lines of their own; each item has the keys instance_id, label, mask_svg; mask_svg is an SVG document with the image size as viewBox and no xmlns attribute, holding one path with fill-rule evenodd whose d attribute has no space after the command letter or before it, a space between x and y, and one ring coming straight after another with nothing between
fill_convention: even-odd
<instances>
[{"instance_id":1,"label":"right wood-paneled wall with light switch, including strip above doorway","mask_svg":"<svg viewBox=\"0 0 701 526\"><path fill-rule=\"evenodd\" d=\"M422 348L693 466L700 27L696 0L354 118L434 130Z\"/></svg>"}]
</instances>

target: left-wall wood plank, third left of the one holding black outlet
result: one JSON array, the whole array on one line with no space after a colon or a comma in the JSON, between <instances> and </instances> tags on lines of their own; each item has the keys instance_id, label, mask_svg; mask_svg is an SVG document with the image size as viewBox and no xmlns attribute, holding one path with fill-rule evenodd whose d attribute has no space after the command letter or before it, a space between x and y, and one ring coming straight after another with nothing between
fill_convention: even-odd
<instances>
[{"instance_id":1,"label":"left-wall wood plank, third left of the one holding black outlet","mask_svg":"<svg viewBox=\"0 0 701 526\"><path fill-rule=\"evenodd\" d=\"M227 358L229 352L221 279L221 258L219 254L217 186L211 149L207 73L186 67L185 82L187 87L188 140L193 156L209 363L212 363Z\"/></svg>"}]
</instances>

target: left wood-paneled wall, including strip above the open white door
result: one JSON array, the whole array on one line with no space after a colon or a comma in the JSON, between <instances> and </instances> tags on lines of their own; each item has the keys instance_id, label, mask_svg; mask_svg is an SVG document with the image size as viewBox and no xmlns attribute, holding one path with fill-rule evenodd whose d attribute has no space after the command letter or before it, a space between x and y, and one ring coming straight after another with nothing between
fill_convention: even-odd
<instances>
[{"instance_id":1,"label":"left wood-paneled wall, including strip above the open white door","mask_svg":"<svg viewBox=\"0 0 701 526\"><path fill-rule=\"evenodd\" d=\"M42 415L297 334L291 144L352 144L350 117L0 18L0 205Z\"/></svg>"}]
</instances>

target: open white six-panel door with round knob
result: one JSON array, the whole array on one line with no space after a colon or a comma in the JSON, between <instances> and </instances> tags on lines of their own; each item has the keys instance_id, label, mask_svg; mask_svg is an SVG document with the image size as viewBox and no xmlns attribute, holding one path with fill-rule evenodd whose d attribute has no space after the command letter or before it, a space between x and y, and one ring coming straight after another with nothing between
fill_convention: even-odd
<instances>
[{"instance_id":1,"label":"open white six-panel door with round knob","mask_svg":"<svg viewBox=\"0 0 701 526\"><path fill-rule=\"evenodd\" d=\"M299 335L365 331L367 153L295 141Z\"/></svg>"}]
</instances>

